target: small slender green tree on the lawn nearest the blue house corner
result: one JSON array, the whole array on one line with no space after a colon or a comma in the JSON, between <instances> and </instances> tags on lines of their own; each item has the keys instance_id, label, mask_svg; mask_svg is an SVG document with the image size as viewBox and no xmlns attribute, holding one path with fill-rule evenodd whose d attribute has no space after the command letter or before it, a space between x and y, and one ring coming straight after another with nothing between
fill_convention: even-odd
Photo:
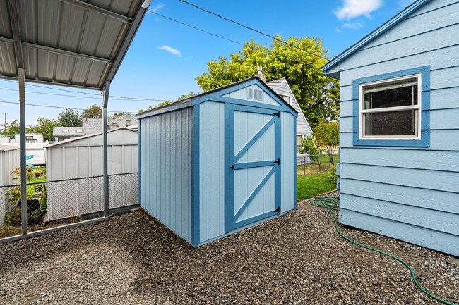
<instances>
[{"instance_id":1,"label":"small slender green tree on the lawn nearest the blue house corner","mask_svg":"<svg viewBox=\"0 0 459 305\"><path fill-rule=\"evenodd\" d=\"M321 122L314 129L313 135L317 141L318 147L323 147L323 149L325 149L331 165L335 166L333 153L340 144L340 123L338 121Z\"/></svg>"}]
</instances>

